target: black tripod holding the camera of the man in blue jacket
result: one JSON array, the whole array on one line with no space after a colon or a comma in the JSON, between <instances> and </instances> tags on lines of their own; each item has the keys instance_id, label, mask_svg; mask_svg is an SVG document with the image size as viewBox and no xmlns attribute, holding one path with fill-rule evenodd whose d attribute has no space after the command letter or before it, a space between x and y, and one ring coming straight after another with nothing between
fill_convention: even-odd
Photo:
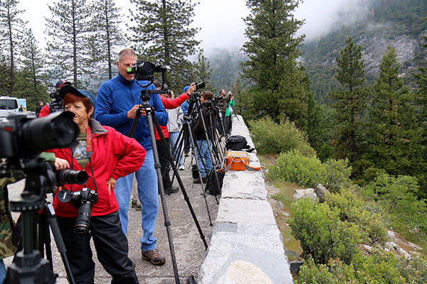
<instances>
[{"instance_id":1,"label":"black tripod holding the camera of the man in blue jacket","mask_svg":"<svg viewBox=\"0 0 427 284\"><path fill-rule=\"evenodd\" d=\"M157 144L156 144L156 138L155 138L155 135L154 135L153 122L154 122L154 126L157 129L157 133L159 133L160 140L162 141L161 142L162 146L165 147L165 149L167 150L168 159L169 159L169 161L172 161L171 164L173 165L172 168L174 169L174 173L176 174L176 180L178 180L179 187L181 188L181 192L184 195L184 200L186 200L186 203L189 206L189 209L190 209L190 212L191 212L191 216L194 219L194 222L196 224L197 229L199 230L199 234L201 236L202 241L204 242L204 246L205 246L206 249L208 248L208 244L206 243L204 234L201 231L201 227L199 225L199 222L197 221L196 214L194 214L193 207L191 207L189 196L186 194L186 190L184 188L184 184L182 183L181 178L179 177L178 170L177 170L177 168L175 167L175 165L173 163L174 157L172 156L172 154L169 151L169 146L167 145L166 140L164 139L164 136L163 136L163 133L162 133L162 129L160 129L159 121L157 121L157 117L154 114L154 109L149 104L150 94L159 94L159 93L160 94L164 94L166 92L167 91L162 91L162 90L147 90L147 89L142 89L141 90L142 105L137 109L137 116L135 117L134 121L132 121L132 126L130 128L128 136L129 137L133 136L133 133L134 133L136 127L137 127L139 118L141 117L141 110L144 109L145 110L145 114L147 115L147 124L148 124L148 127L149 127L149 136L151 138L151 143L152 143L152 148L153 148L154 168L156 168L156 171L157 171L157 180L158 180L158 185L159 185L160 199L162 200L162 209L163 209L163 214L164 214L164 225L166 226L166 229L167 229L167 237L168 237L168 241L169 241L169 249L170 249L170 252L171 252L172 266L174 268L175 283L179 283L178 266L176 266L174 244L173 244L173 241L172 241L172 232L171 232L171 229L170 229L171 222L169 221L169 214L167 212L166 197L164 196L164 188L163 188L163 182L162 182L162 173L161 173L161 170L160 170L159 154L157 152Z\"/></svg>"}]
</instances>

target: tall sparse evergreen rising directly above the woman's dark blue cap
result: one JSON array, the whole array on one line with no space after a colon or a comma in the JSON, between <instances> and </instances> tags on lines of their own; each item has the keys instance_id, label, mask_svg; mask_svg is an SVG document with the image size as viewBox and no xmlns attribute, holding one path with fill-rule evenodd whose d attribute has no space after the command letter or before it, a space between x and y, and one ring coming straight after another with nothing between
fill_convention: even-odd
<instances>
[{"instance_id":1,"label":"tall sparse evergreen rising directly above the woman's dark blue cap","mask_svg":"<svg viewBox=\"0 0 427 284\"><path fill-rule=\"evenodd\" d=\"M58 77L73 77L75 87L81 87L83 77L96 70L88 59L90 35L90 9L86 0L59 0L48 5L51 18L46 19L48 64ZM59 79L59 78L55 78Z\"/></svg>"}]
</instances>

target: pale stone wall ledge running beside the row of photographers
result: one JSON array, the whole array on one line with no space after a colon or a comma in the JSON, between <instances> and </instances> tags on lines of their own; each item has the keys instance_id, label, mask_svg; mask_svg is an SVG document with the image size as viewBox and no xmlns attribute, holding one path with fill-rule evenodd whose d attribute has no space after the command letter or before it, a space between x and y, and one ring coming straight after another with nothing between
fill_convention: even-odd
<instances>
[{"instance_id":1,"label":"pale stone wall ledge running beside the row of photographers","mask_svg":"<svg viewBox=\"0 0 427 284\"><path fill-rule=\"evenodd\" d=\"M233 117L232 135L245 136L253 147L241 116ZM253 167L259 166L255 153L250 154ZM236 263L242 261L253 265L250 266L253 274L236 271L239 267ZM239 279L240 283L256 283L260 276L267 279L263 283L293 283L283 239L267 201L265 180L260 171L230 170L226 173L214 231L199 269L198 283L234 283L229 280L233 273L240 278L244 275L245 279Z\"/></svg>"}]
</instances>

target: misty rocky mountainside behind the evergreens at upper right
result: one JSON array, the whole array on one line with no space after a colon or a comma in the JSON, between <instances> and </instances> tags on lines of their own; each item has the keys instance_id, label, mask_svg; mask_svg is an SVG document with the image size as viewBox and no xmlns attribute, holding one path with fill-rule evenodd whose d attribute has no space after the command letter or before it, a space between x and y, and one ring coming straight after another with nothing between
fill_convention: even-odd
<instances>
[{"instance_id":1,"label":"misty rocky mountainside behind the evergreens at upper right","mask_svg":"<svg viewBox=\"0 0 427 284\"><path fill-rule=\"evenodd\" d=\"M399 73L407 84L413 85L412 72L426 56L421 47L422 35L427 35L427 1L376 0L371 1L367 14L352 26L344 26L345 18L331 33L302 46L302 59L312 83L312 92L318 103L330 102L327 93L337 88L334 64L345 40L352 35L362 45L367 83L379 73L382 55L389 45L396 49L401 63Z\"/></svg>"}]
</instances>

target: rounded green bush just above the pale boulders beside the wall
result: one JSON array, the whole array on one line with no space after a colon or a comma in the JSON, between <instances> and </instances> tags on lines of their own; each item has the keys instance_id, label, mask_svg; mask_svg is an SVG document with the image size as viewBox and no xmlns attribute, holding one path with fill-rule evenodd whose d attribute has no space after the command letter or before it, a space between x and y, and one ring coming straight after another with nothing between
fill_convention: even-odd
<instances>
[{"instance_id":1,"label":"rounded green bush just above the pale boulders beside the wall","mask_svg":"<svg viewBox=\"0 0 427 284\"><path fill-rule=\"evenodd\" d=\"M270 177L315 187L318 183L326 184L327 170L315 155L306 156L292 150L278 156L276 165L270 167Z\"/></svg>"}]
</instances>

